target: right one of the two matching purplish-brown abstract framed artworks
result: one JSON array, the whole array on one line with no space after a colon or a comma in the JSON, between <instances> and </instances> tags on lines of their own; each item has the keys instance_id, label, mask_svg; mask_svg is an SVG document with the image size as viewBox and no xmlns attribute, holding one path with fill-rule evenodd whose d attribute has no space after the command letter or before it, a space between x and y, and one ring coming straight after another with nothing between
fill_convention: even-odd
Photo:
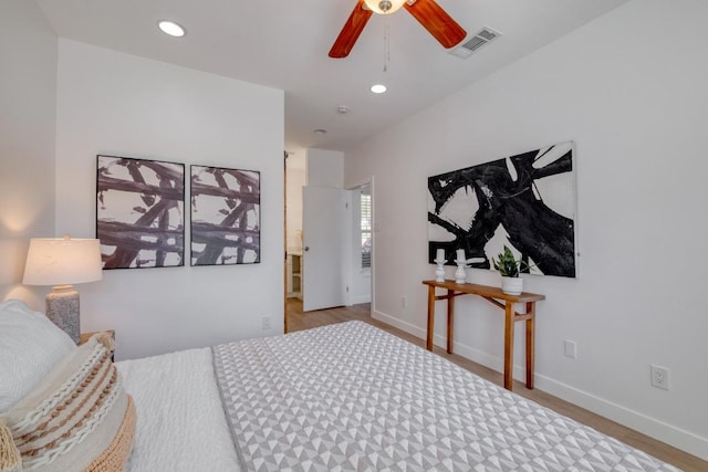
<instances>
[{"instance_id":1,"label":"right one of the two matching purplish-brown abstract framed artworks","mask_svg":"<svg viewBox=\"0 0 708 472\"><path fill-rule=\"evenodd\" d=\"M191 166L191 265L259 263L260 172Z\"/></svg>"}]
</instances>

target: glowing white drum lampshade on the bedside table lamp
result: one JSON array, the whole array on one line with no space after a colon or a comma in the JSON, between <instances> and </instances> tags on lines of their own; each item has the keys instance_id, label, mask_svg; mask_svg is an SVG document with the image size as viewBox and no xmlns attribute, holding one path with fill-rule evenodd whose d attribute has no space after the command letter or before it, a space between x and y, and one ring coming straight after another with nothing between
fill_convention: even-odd
<instances>
[{"instance_id":1,"label":"glowing white drum lampshade on the bedside table lamp","mask_svg":"<svg viewBox=\"0 0 708 472\"><path fill-rule=\"evenodd\" d=\"M33 238L24 265L27 285L71 285L103 276L97 239Z\"/></svg>"}]
</instances>

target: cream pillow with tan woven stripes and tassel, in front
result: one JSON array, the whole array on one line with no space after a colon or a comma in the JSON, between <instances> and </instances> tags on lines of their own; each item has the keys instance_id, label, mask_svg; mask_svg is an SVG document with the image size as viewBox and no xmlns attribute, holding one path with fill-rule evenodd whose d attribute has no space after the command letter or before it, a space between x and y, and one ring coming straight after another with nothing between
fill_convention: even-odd
<instances>
[{"instance_id":1,"label":"cream pillow with tan woven stripes and tassel, in front","mask_svg":"<svg viewBox=\"0 0 708 472\"><path fill-rule=\"evenodd\" d=\"M0 471L125 468L136 417L113 346L108 333L95 334L0 416Z\"/></svg>"}]
</instances>

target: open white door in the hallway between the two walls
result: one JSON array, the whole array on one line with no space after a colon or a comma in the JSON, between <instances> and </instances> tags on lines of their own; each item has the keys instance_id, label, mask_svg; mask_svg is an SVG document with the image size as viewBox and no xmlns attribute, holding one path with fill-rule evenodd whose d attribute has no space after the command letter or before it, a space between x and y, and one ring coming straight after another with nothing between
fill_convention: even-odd
<instances>
[{"instance_id":1,"label":"open white door in the hallway between the two walls","mask_svg":"<svg viewBox=\"0 0 708 472\"><path fill-rule=\"evenodd\" d=\"M346 193L334 187L302 192L302 310L342 306Z\"/></svg>"}]
</instances>

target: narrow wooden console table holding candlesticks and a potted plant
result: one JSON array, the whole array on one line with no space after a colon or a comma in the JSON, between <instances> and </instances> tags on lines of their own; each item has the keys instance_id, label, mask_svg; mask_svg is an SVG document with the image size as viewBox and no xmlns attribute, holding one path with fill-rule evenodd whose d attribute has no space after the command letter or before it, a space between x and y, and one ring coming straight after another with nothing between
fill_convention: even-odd
<instances>
[{"instance_id":1,"label":"narrow wooden console table holding candlesticks and a potted plant","mask_svg":"<svg viewBox=\"0 0 708 472\"><path fill-rule=\"evenodd\" d=\"M460 295L479 295L504 311L504 388L512 389L513 381L513 332L514 323L527 322L527 388L533 388L533 355L535 329L535 302L545 300L545 295L522 292L520 295L508 295L500 287L472 283L458 284L455 281L423 281L428 286L428 333L426 348L433 350L435 325L435 302L447 300L447 352L452 354L452 328L455 325L455 297ZM445 295L436 295L435 289L445 289ZM502 303L503 302L503 303ZM514 311L514 304L525 303L524 314Z\"/></svg>"}]
</instances>

